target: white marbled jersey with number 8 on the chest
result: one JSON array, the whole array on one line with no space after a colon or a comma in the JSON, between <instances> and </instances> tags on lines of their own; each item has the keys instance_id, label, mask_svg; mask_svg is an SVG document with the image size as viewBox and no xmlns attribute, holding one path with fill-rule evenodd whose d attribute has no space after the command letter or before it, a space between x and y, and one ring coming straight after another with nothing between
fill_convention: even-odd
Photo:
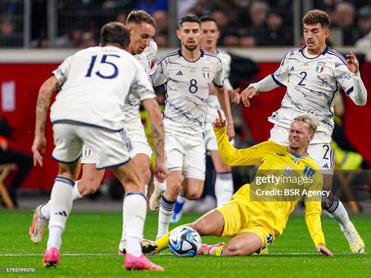
<instances>
[{"instance_id":1,"label":"white marbled jersey with number 8 on the chest","mask_svg":"<svg viewBox=\"0 0 371 278\"><path fill-rule=\"evenodd\" d=\"M165 132L193 138L203 136L210 84L223 86L220 59L201 50L200 58L189 62L181 50L170 52L157 60L150 71L153 86L166 83L163 112Z\"/></svg>"}]
</instances>

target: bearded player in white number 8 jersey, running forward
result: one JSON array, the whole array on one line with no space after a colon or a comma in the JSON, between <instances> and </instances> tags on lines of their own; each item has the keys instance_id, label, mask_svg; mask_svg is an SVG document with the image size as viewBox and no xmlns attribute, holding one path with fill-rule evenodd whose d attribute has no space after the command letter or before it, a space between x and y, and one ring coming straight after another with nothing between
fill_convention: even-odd
<instances>
[{"instance_id":1,"label":"bearded player in white number 8 jersey, running forward","mask_svg":"<svg viewBox=\"0 0 371 278\"><path fill-rule=\"evenodd\" d=\"M163 112L166 166L170 174L160 197L156 238L168 232L177 195L200 198L205 180L205 118L209 88L213 83L228 121L228 136L234 137L227 92L223 89L220 59L200 49L200 19L183 16L176 35L181 49L160 57L150 71L153 86L166 84ZM182 186L182 188L181 188Z\"/></svg>"}]
</instances>

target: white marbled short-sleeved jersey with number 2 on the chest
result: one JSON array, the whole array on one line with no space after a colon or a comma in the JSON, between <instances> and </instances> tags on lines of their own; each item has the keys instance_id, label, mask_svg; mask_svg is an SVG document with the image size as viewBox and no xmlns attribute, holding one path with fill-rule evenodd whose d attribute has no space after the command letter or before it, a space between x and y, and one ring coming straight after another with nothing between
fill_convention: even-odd
<instances>
[{"instance_id":1,"label":"white marbled short-sleeved jersey with number 2 on the chest","mask_svg":"<svg viewBox=\"0 0 371 278\"><path fill-rule=\"evenodd\" d=\"M286 53L274 81L287 87L281 108L268 121L289 128L291 121L303 113L313 114L319 121L318 131L332 134L333 105L339 86L349 95L353 91L351 73L345 59L326 47L320 55L309 55L306 47Z\"/></svg>"}]
</instances>

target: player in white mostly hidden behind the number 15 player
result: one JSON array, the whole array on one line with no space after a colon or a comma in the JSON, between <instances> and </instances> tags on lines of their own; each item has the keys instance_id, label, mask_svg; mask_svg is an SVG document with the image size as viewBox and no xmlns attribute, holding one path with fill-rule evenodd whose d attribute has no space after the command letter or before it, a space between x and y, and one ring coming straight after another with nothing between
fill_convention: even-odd
<instances>
[{"instance_id":1,"label":"player in white mostly hidden behind the number 15 player","mask_svg":"<svg viewBox=\"0 0 371 278\"><path fill-rule=\"evenodd\" d=\"M130 32L130 44L126 50L133 54L133 57L138 60L144 70L148 73L152 59L157 52L157 45L153 40L151 40L151 37L155 32L155 21L144 11L133 11L128 15L126 26ZM139 99L130 94L125 105L122 107L122 111L125 117L125 131L132 143L131 156L138 162L138 168L147 187L147 184L151 178L149 165L152 150L148 145L148 141L141 124L139 105ZM83 175L81 180L77 181L76 186L74 186L72 192L73 200L82 198L98 190L105 170L96 169L95 164L97 159L96 154L91 151L90 146L84 144L81 157L81 163L83 164ZM31 240L35 243L39 243L42 240L44 229L49 221L49 217L50 202L47 204L42 204L36 208L29 232ZM123 223L122 235L119 244L119 254L124 254L125 252L125 234L126 228L125 223ZM147 243L147 248L152 247L149 241L145 242ZM145 245L145 242L142 242L143 246Z\"/></svg>"}]
</instances>

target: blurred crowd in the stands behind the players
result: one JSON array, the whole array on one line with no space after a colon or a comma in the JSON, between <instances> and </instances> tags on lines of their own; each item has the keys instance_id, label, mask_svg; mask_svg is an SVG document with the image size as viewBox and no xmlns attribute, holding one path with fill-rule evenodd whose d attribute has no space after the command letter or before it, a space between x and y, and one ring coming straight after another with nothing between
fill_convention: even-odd
<instances>
[{"instance_id":1,"label":"blurred crowd in the stands behind the players","mask_svg":"<svg viewBox=\"0 0 371 278\"><path fill-rule=\"evenodd\" d=\"M109 21L126 23L133 9L144 10L156 21L154 40L158 47L169 43L170 1L176 2L176 16L211 15L219 25L219 46L292 46L295 1L307 0L52 0L55 1L54 48L87 48L99 43L99 30ZM329 44L371 47L371 5L369 0L311 0L312 8L331 19ZM26 5L28 3L29 5ZM25 47L25 24L30 24L31 48L49 48L50 0L2 0L0 3L0 47ZM31 10L25 22L26 9ZM48 39L49 38L49 39ZM27 46L26 46L27 47Z\"/></svg>"}]
</instances>

